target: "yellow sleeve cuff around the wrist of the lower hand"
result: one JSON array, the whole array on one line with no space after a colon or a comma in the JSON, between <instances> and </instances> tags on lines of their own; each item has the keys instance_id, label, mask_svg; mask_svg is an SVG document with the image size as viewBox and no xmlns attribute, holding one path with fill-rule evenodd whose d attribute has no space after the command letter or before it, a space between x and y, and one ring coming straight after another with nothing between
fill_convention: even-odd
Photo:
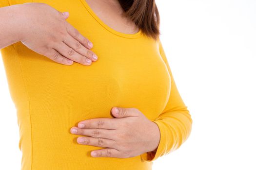
<instances>
[{"instance_id":1,"label":"yellow sleeve cuff around the wrist of the lower hand","mask_svg":"<svg viewBox=\"0 0 256 170\"><path fill-rule=\"evenodd\" d=\"M153 162L154 160L158 159L158 157L162 156L165 153L165 141L166 141L166 135L163 130L162 124L157 121L157 120L152 120L158 125L158 128L160 130L160 142L157 148L157 152L147 152L147 153L142 153L140 155L141 159L146 162Z\"/></svg>"}]
</instances>

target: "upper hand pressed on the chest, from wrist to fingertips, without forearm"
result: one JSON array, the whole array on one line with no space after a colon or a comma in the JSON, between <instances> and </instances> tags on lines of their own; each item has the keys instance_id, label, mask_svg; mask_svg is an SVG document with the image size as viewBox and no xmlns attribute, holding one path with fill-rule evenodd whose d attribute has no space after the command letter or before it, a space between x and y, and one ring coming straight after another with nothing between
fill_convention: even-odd
<instances>
[{"instance_id":1,"label":"upper hand pressed on the chest, from wrist to fingertips, without forearm","mask_svg":"<svg viewBox=\"0 0 256 170\"><path fill-rule=\"evenodd\" d=\"M22 44L64 65L71 65L75 61L88 66L97 60L93 58L95 53L89 50L92 43L66 21L68 13L64 15L45 3L28 2L20 5Z\"/></svg>"}]
</instances>

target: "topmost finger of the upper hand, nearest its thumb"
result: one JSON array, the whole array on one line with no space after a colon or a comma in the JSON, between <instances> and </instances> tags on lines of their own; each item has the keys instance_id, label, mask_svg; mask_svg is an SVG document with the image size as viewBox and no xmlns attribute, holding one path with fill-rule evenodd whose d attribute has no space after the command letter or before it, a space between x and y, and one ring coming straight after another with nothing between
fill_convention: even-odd
<instances>
[{"instance_id":1,"label":"topmost finger of the upper hand, nearest its thumb","mask_svg":"<svg viewBox=\"0 0 256 170\"><path fill-rule=\"evenodd\" d=\"M78 40L84 47L88 49L93 48L93 43L91 41L89 41L82 34L80 34L79 31L76 28L74 28L69 22L66 22L66 24L68 34L70 34L76 40Z\"/></svg>"}]
</instances>

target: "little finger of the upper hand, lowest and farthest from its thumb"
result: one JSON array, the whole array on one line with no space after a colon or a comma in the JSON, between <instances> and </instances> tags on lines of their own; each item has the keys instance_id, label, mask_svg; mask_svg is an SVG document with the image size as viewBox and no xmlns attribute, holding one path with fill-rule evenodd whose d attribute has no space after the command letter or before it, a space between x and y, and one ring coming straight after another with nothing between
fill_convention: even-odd
<instances>
[{"instance_id":1,"label":"little finger of the upper hand, lowest and farthest from its thumb","mask_svg":"<svg viewBox=\"0 0 256 170\"><path fill-rule=\"evenodd\" d=\"M46 53L44 53L43 55L45 55L46 57L50 58L51 60L60 63L60 64L64 64L64 65L72 65L73 61L69 60L68 58L64 57L63 55L61 55L58 51L54 50L54 49L49 49L46 51Z\"/></svg>"}]
</instances>

